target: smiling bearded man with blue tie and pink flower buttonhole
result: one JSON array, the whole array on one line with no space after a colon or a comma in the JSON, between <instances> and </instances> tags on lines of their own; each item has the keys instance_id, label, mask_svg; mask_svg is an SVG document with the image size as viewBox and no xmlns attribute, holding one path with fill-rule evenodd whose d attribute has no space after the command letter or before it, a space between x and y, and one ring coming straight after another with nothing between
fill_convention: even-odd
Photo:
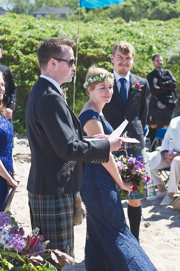
<instances>
[{"instance_id":1,"label":"smiling bearded man with blue tie and pink flower buttonhole","mask_svg":"<svg viewBox=\"0 0 180 271\"><path fill-rule=\"evenodd\" d=\"M140 141L140 143L135 143L132 147L133 149L135 147L142 150L145 147L143 133L146 126L150 92L147 80L130 72L134 63L134 54L134 47L130 43L124 41L116 42L111 55L115 76L113 96L110 103L105 104L103 114L113 129L116 129L127 119L129 122L126 127L128 136ZM135 80L139 81L137 83L139 86L133 89L132 86L136 84ZM135 199L128 200L130 228L138 241L141 220L140 197L141 195L137 198L134 195L133 198Z\"/></svg>"}]
</instances>

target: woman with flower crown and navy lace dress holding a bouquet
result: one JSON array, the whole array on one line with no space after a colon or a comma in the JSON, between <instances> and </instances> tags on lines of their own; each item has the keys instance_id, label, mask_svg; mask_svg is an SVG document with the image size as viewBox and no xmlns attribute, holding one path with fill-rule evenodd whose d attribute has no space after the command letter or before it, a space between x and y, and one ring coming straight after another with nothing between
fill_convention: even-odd
<instances>
[{"instance_id":1,"label":"woman with flower crown and navy lace dress holding a bouquet","mask_svg":"<svg viewBox=\"0 0 180 271\"><path fill-rule=\"evenodd\" d=\"M89 68L84 84L89 101L79 115L84 136L113 132L102 114L113 94L113 82L113 75L107 70L96 66ZM122 182L111 153L108 163L85 164L80 194L87 210L86 270L157 270L126 224L115 182L130 193L131 184Z\"/></svg>"}]
</instances>

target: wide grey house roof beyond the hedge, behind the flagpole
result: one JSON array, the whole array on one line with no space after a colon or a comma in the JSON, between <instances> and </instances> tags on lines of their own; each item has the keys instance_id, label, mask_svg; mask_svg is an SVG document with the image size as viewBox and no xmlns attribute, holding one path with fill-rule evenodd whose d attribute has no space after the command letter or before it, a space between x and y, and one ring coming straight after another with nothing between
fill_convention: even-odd
<instances>
[{"instance_id":1,"label":"wide grey house roof beyond the hedge, behind the flagpole","mask_svg":"<svg viewBox=\"0 0 180 271\"><path fill-rule=\"evenodd\" d=\"M56 14L66 14L71 13L73 10L68 7L41 7L36 11L32 12L32 14L49 14L49 13L56 13Z\"/></svg>"}]
</instances>

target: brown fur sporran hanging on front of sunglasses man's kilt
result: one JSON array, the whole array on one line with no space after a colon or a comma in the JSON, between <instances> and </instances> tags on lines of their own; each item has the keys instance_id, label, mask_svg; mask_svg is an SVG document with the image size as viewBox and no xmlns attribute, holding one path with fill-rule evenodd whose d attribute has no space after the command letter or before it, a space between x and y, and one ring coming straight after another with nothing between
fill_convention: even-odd
<instances>
[{"instance_id":1,"label":"brown fur sporran hanging on front of sunglasses man's kilt","mask_svg":"<svg viewBox=\"0 0 180 271\"><path fill-rule=\"evenodd\" d=\"M80 193L78 192L78 196L74 193L74 226L80 225L85 217L86 209Z\"/></svg>"}]
</instances>

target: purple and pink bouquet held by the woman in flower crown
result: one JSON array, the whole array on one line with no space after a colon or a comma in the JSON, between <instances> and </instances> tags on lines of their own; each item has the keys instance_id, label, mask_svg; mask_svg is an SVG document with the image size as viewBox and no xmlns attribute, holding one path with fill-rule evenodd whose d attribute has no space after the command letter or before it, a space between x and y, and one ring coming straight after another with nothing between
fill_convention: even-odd
<instances>
[{"instance_id":1,"label":"purple and pink bouquet held by the woman in flower crown","mask_svg":"<svg viewBox=\"0 0 180 271\"><path fill-rule=\"evenodd\" d=\"M131 182L133 184L132 190L136 192L139 190L143 193L143 186L147 189L146 183L149 182L152 177L145 172L146 164L141 164L141 158L141 156L135 158L132 154L128 157L128 154L126 153L126 157L123 155L115 157L115 161L122 180ZM119 190L119 186L117 184L116 188ZM121 189L119 196L120 198L128 198L128 191Z\"/></svg>"}]
</instances>

